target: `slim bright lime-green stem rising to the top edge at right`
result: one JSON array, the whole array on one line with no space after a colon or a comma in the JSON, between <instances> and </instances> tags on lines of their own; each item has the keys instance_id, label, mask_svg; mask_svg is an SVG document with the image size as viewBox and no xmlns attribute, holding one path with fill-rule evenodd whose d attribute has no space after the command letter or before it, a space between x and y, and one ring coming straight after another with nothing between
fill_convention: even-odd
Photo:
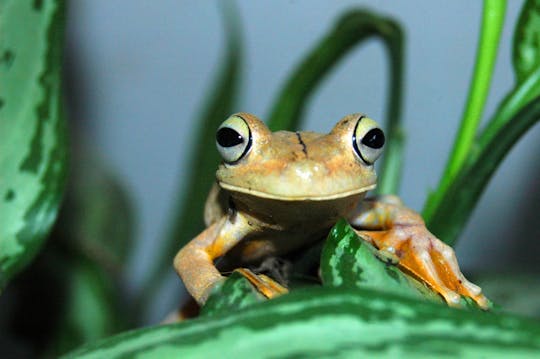
<instances>
[{"instance_id":1,"label":"slim bright lime-green stem rising to the top edge at right","mask_svg":"<svg viewBox=\"0 0 540 359\"><path fill-rule=\"evenodd\" d=\"M469 89L467 105L461 125L437 191L424 207L424 218L429 222L440 205L444 193L459 173L474 144L478 124L486 102L497 56L501 29L504 23L506 0L485 0L482 28L476 53L476 64Z\"/></svg>"}]
</instances>

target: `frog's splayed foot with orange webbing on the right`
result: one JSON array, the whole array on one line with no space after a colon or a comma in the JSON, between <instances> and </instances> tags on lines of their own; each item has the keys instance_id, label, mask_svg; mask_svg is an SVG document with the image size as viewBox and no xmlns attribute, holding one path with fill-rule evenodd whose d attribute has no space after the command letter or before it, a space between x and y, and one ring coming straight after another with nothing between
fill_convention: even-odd
<instances>
[{"instance_id":1,"label":"frog's splayed foot with orange webbing on the right","mask_svg":"<svg viewBox=\"0 0 540 359\"><path fill-rule=\"evenodd\" d=\"M383 253L398 259L398 266L439 293L450 306L460 306L460 296L470 297L488 309L487 298L461 273L454 250L423 225L395 226L385 231L356 231Z\"/></svg>"}]
</instances>

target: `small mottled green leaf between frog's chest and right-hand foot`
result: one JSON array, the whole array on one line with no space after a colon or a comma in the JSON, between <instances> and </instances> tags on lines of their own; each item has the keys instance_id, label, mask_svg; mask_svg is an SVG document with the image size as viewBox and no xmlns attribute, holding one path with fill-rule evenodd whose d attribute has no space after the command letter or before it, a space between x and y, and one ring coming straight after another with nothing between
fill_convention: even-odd
<instances>
[{"instance_id":1,"label":"small mottled green leaf between frog's chest and right-hand foot","mask_svg":"<svg viewBox=\"0 0 540 359\"><path fill-rule=\"evenodd\" d=\"M373 288L413 298L442 303L442 298L424 284L384 261L378 250L359 237L341 219L330 231L321 255L324 285Z\"/></svg>"}]
</instances>

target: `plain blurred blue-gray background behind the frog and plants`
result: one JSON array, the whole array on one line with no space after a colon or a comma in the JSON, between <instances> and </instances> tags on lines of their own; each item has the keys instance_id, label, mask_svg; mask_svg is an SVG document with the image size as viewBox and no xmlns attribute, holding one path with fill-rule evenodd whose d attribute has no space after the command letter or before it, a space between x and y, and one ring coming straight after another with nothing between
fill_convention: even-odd
<instances>
[{"instance_id":1,"label":"plain blurred blue-gray background behind the frog and plants","mask_svg":"<svg viewBox=\"0 0 540 359\"><path fill-rule=\"evenodd\" d=\"M237 5L245 63L236 110L263 119L292 69L346 9L368 7L401 22L407 38L401 195L420 210L438 183L462 114L482 3L242 0ZM507 9L484 118L514 84L511 37L520 6L512 1ZM71 117L134 201L138 246L129 277L137 288L165 234L176 189L190 172L194 120L224 54L220 8L217 1L73 0L67 35ZM354 50L313 97L304 128L327 131L352 112L382 119L387 77L380 43ZM457 246L465 270L538 269L539 153L536 126L505 159ZM173 293L181 285L172 273L171 266L161 312L177 303Z\"/></svg>"}]
</instances>

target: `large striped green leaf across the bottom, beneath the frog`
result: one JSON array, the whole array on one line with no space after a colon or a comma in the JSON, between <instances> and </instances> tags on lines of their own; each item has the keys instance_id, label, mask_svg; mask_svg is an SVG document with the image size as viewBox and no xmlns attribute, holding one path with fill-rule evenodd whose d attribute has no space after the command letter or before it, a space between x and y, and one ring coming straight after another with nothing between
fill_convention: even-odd
<instances>
[{"instance_id":1,"label":"large striped green leaf across the bottom, beneath the frog","mask_svg":"<svg viewBox=\"0 0 540 359\"><path fill-rule=\"evenodd\" d=\"M372 289L310 288L174 325L127 332L66 358L534 357L540 324Z\"/></svg>"}]
</instances>

